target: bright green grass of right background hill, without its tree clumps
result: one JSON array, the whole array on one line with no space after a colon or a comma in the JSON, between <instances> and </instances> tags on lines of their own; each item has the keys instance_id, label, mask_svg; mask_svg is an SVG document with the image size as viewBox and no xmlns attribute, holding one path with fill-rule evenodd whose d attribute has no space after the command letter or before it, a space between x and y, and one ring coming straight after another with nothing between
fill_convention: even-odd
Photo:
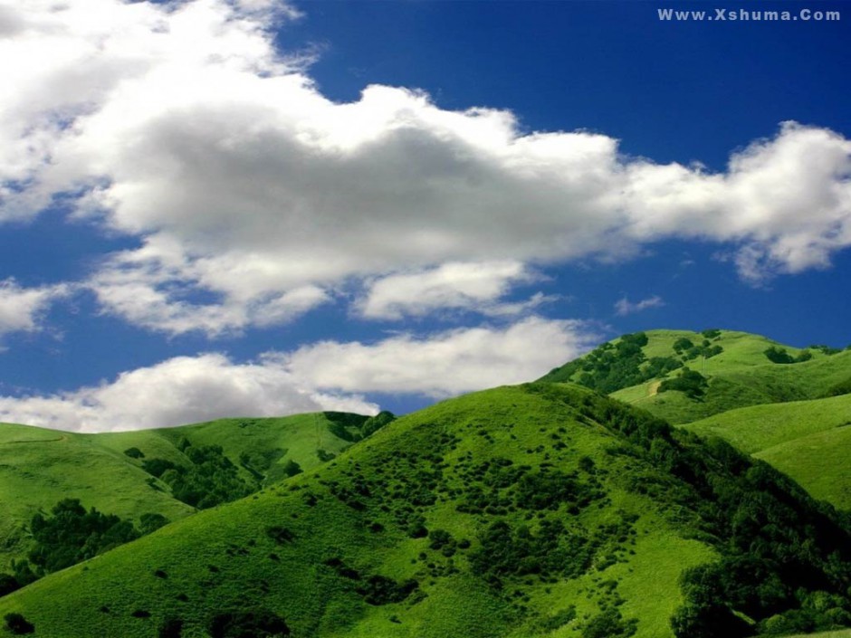
<instances>
[{"instance_id":1,"label":"bright green grass of right background hill, without its tree clumps","mask_svg":"<svg viewBox=\"0 0 851 638\"><path fill-rule=\"evenodd\" d=\"M703 339L684 330L645 334L647 359L675 357L677 339L689 338L695 344ZM708 379L705 395L660 393L662 379L657 378L621 388L612 396L695 433L720 436L789 474L816 498L851 509L847 463L851 434L839 429L851 423L851 395L822 398L851 378L851 351L827 355L813 349L810 360L784 365L770 362L766 348L785 348L792 357L802 349L729 330L722 330L711 343L723 351L686 362ZM676 370L668 377L678 374ZM576 371L571 378L579 375Z\"/></svg>"}]
</instances>

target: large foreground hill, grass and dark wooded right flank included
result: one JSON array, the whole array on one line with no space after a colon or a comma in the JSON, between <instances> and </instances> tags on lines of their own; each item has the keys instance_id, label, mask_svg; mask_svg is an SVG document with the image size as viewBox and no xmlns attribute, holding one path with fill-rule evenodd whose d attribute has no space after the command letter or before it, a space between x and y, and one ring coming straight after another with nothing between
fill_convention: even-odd
<instances>
[{"instance_id":1,"label":"large foreground hill, grass and dark wooded right flank included","mask_svg":"<svg viewBox=\"0 0 851 638\"><path fill-rule=\"evenodd\" d=\"M843 525L730 446L531 384L403 417L7 595L0 617L51 638L656 638L674 615L679 636L733 638L797 607L848 615Z\"/></svg>"}]
</instances>

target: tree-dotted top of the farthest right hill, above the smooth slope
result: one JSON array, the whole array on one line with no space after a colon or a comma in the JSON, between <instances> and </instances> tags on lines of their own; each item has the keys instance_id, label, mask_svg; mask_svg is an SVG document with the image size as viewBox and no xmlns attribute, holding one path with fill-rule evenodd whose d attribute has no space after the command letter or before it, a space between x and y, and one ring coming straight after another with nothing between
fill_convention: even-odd
<instances>
[{"instance_id":1,"label":"tree-dotted top of the farthest right hill, above the smooth slope","mask_svg":"<svg viewBox=\"0 0 851 638\"><path fill-rule=\"evenodd\" d=\"M837 388L851 379L848 350L827 354L818 348L791 348L731 330L648 330L637 335L645 339L636 342L636 336L626 335L541 380L580 383L685 424L747 405L819 398L842 391ZM686 342L691 346L684 346ZM807 360L774 363L765 354L770 348L792 360ZM705 386L694 395L665 391L665 380L681 376L685 367L703 376Z\"/></svg>"}]
</instances>

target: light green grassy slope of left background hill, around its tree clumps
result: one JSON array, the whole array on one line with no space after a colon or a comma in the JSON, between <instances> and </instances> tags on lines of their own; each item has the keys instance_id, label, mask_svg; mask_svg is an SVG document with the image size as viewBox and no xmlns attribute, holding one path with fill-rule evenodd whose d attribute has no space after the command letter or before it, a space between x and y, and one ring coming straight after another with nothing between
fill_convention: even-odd
<instances>
[{"instance_id":1,"label":"light green grassy slope of left background hill, around its tree clumps","mask_svg":"<svg viewBox=\"0 0 851 638\"><path fill-rule=\"evenodd\" d=\"M194 445L221 445L246 480L277 480L288 461L309 470L321 462L318 450L336 454L348 447L351 443L331 432L332 426L325 414L98 434L0 424L0 572L26 554L24 526L33 514L65 498L134 522L147 512L170 520L193 513L194 507L173 498L165 483L142 469L153 458L186 463L178 448L182 438ZM124 453L134 447L145 456Z\"/></svg>"}]
</instances>

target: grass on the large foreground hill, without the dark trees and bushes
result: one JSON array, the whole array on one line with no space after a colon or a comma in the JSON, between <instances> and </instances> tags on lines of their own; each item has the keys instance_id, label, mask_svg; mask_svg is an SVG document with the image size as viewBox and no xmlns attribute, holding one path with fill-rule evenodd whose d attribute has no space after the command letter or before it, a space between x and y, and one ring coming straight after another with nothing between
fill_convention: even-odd
<instances>
[{"instance_id":1,"label":"grass on the large foreground hill, without the dark trees and bushes","mask_svg":"<svg viewBox=\"0 0 851 638\"><path fill-rule=\"evenodd\" d=\"M687 522L697 510L674 502L684 490L679 480L665 478L645 452L624 448L625 439L603 424L609 409L621 408L560 385L503 387L434 405L330 463L7 595L0 617L22 613L36 637L50 638L147 638L179 617L184 636L200 637L212 614L253 605L282 615L301 638L580 638L589 618L616 605L638 621L639 638L670 636L668 619L683 603L681 574L718 554ZM580 469L585 457L595 469ZM486 485L483 462L528 465L534 476L576 472L598 488L575 511L569 500L536 510L509 498L515 481L500 492L509 495L504 507L459 511ZM470 547L445 556L430 538L410 538L406 528L417 516ZM590 567L501 576L500 588L474 572L473 556L494 520L538 533L541 519L598 538ZM270 528L289 533L276 541ZM331 567L340 561L359 579L340 576ZM400 602L369 605L357 591L369 576L413 578L418 587ZM575 619L547 625L570 605ZM137 611L150 615L133 617Z\"/></svg>"}]
</instances>

